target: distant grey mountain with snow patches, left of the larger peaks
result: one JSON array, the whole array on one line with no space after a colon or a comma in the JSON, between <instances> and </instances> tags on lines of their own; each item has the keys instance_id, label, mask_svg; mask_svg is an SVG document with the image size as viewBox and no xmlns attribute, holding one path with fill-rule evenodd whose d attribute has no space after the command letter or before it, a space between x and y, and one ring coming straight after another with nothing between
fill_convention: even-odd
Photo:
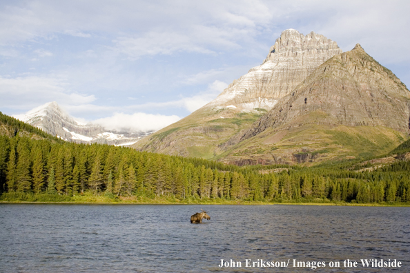
<instances>
[{"instance_id":1,"label":"distant grey mountain with snow patches, left of the larger peaks","mask_svg":"<svg viewBox=\"0 0 410 273\"><path fill-rule=\"evenodd\" d=\"M101 143L110 145L131 145L150 132L113 132L100 125L76 121L53 101L26 114L15 115L17 119L40 128L66 141L76 143Z\"/></svg>"}]
</instances>

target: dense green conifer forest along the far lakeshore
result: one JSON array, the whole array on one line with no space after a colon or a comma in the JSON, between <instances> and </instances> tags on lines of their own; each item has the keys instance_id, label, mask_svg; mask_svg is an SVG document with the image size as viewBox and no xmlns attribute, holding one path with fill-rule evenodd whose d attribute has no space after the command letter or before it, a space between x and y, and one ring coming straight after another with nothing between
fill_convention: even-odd
<instances>
[{"instance_id":1,"label":"dense green conifer forest along the far lakeshore","mask_svg":"<svg viewBox=\"0 0 410 273\"><path fill-rule=\"evenodd\" d=\"M404 144L400 151L406 149ZM47 135L0 136L0 190L6 201L41 194L69 201L70 196L93 194L117 200L162 196L175 201L410 203L409 161L371 172L358 171L362 167L353 160L311 168L240 168L111 145L50 141Z\"/></svg>"}]
</instances>

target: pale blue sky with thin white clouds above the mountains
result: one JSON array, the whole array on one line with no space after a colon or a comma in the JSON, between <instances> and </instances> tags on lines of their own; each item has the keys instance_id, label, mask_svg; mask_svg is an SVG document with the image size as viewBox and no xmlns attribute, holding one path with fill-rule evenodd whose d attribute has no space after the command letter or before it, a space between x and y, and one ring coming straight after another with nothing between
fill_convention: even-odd
<instances>
[{"instance_id":1,"label":"pale blue sky with thin white clouds above the mountains","mask_svg":"<svg viewBox=\"0 0 410 273\"><path fill-rule=\"evenodd\" d=\"M111 130L159 130L260 65L294 28L360 43L410 85L410 1L0 1L0 111L57 101Z\"/></svg>"}]
</instances>

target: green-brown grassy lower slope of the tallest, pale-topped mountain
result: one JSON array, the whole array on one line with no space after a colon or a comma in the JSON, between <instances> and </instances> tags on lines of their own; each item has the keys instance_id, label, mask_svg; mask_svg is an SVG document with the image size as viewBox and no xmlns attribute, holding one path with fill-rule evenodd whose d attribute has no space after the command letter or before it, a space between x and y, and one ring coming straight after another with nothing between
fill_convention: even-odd
<instances>
[{"instance_id":1,"label":"green-brown grassy lower slope of the tallest, pale-topped mountain","mask_svg":"<svg viewBox=\"0 0 410 273\"><path fill-rule=\"evenodd\" d=\"M259 114L258 114L259 112ZM163 154L214 159L224 143L240 130L248 128L265 110L238 113L202 108L188 117L151 134L133 145L137 150Z\"/></svg>"}]
</instances>

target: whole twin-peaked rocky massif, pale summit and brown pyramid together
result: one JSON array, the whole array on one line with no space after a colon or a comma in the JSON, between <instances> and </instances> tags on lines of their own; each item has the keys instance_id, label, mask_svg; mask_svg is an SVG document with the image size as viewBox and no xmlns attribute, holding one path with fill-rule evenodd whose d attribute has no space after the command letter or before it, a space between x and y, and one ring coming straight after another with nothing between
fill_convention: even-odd
<instances>
[{"instance_id":1,"label":"whole twin-peaked rocky massif, pale summit and brown pyramid together","mask_svg":"<svg viewBox=\"0 0 410 273\"><path fill-rule=\"evenodd\" d=\"M238 165L371 156L408 138L409 108L404 83L360 45L342 53L285 30L262 65L134 147Z\"/></svg>"}]
</instances>

